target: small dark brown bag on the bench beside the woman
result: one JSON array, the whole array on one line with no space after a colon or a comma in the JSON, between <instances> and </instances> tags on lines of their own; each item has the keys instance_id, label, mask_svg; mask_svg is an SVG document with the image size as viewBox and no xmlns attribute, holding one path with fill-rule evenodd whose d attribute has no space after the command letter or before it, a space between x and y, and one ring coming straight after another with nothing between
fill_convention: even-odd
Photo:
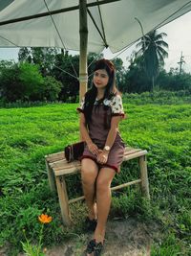
<instances>
[{"instance_id":1,"label":"small dark brown bag on the bench beside the woman","mask_svg":"<svg viewBox=\"0 0 191 256\"><path fill-rule=\"evenodd\" d=\"M84 148L85 148L84 141L80 141L65 147L64 151L65 151L65 157L67 161L72 162L74 160L79 160L83 154Z\"/></svg>"}]
</instances>

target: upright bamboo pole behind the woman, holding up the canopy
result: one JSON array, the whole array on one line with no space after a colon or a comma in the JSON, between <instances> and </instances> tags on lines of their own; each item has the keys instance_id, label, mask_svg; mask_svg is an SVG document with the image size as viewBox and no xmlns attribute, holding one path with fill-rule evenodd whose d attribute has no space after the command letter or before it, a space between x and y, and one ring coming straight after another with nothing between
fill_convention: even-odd
<instances>
[{"instance_id":1,"label":"upright bamboo pole behind the woman, holding up the canopy","mask_svg":"<svg viewBox=\"0 0 191 256\"><path fill-rule=\"evenodd\" d=\"M87 0L79 0L79 101L87 91L87 46L88 46L88 25L87 25Z\"/></svg>"}]
</instances>

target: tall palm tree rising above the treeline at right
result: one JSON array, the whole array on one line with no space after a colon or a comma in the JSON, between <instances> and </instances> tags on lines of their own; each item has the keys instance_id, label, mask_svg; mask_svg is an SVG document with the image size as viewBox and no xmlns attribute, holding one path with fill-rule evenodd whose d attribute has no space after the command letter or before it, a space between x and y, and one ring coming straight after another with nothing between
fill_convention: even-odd
<instances>
[{"instance_id":1,"label":"tall palm tree rising above the treeline at right","mask_svg":"<svg viewBox=\"0 0 191 256\"><path fill-rule=\"evenodd\" d=\"M159 68L164 65L164 58L168 57L168 44L163 40L165 33L158 34L156 30L144 35L137 47L138 55L142 56L142 64L154 90L155 79L159 74Z\"/></svg>"}]
</instances>

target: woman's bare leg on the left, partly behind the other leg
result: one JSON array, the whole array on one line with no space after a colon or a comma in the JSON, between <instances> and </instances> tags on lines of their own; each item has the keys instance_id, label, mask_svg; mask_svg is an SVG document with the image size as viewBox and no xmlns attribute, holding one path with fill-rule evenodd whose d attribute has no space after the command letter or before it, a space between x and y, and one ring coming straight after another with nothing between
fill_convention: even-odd
<instances>
[{"instance_id":1,"label":"woman's bare leg on the left, partly behind the other leg","mask_svg":"<svg viewBox=\"0 0 191 256\"><path fill-rule=\"evenodd\" d=\"M81 179L83 193L86 199L86 204L89 210L90 220L96 219L96 176L98 174L98 167L95 161L84 158L81 161Z\"/></svg>"}]
</instances>

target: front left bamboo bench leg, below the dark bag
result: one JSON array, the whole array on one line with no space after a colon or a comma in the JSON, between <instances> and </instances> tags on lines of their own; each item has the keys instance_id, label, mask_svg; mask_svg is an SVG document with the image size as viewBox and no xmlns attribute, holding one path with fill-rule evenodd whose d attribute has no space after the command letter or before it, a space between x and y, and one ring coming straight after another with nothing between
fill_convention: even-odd
<instances>
[{"instance_id":1,"label":"front left bamboo bench leg, below the dark bag","mask_svg":"<svg viewBox=\"0 0 191 256\"><path fill-rule=\"evenodd\" d=\"M69 200L68 200L68 194L66 190L66 182L64 177L55 177L55 182L57 186L57 194L59 198L59 204L61 208L61 215L62 220L64 224L70 225L71 224L71 214L69 209Z\"/></svg>"}]
</instances>

